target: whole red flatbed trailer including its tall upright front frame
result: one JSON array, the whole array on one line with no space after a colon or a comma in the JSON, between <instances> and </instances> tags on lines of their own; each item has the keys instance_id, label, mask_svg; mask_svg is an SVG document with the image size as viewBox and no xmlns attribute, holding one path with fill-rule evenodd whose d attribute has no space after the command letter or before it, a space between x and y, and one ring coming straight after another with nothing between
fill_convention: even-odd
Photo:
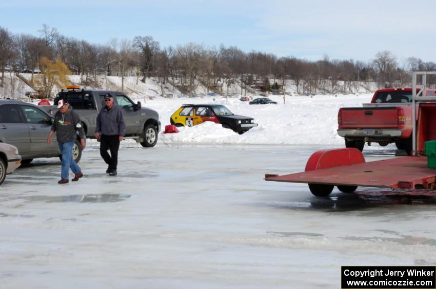
<instances>
[{"instance_id":1,"label":"whole red flatbed trailer including its tall upright front frame","mask_svg":"<svg viewBox=\"0 0 436 289\"><path fill-rule=\"evenodd\" d=\"M320 150L307 161L304 172L286 175L265 174L265 181L307 183L315 196L328 196L334 186L342 192L354 192L358 187L391 188L402 190L424 189L436 194L436 169L427 167L424 143L436 139L436 97L419 97L417 75L422 75L421 91L426 76L436 72L412 73L413 156L366 162L356 148ZM415 105L423 102L418 108Z\"/></svg>"}]
</instances>

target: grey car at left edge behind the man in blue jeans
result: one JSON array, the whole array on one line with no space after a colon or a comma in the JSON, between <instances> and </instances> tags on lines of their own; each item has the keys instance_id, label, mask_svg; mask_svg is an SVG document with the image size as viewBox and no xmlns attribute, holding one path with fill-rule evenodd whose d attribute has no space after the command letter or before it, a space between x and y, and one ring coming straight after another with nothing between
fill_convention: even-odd
<instances>
[{"instance_id":1,"label":"grey car at left edge behind the man in blue jeans","mask_svg":"<svg viewBox=\"0 0 436 289\"><path fill-rule=\"evenodd\" d=\"M39 106L17 100L0 100L0 142L14 145L21 154L22 163L29 164L36 158L59 157L56 138L48 144L53 117ZM73 145L73 159L82 157L82 146L77 140Z\"/></svg>"}]
</instances>

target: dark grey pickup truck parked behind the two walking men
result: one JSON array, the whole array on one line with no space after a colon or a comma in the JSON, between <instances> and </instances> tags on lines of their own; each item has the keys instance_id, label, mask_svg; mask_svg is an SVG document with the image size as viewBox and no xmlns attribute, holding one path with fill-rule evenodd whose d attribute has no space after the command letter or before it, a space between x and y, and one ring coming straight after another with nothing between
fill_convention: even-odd
<instances>
[{"instance_id":1,"label":"dark grey pickup truck parked behind the two walking men","mask_svg":"<svg viewBox=\"0 0 436 289\"><path fill-rule=\"evenodd\" d=\"M54 99L68 102L80 116L86 137L94 139L95 122L98 112L105 105L104 96L110 94L122 110L126 122L125 139L135 139L143 147L153 147L157 142L157 134L161 129L159 115L153 109L141 107L141 102L134 103L128 96L115 91L81 90L78 86L67 86ZM57 106L39 106L54 115Z\"/></svg>"}]
</instances>

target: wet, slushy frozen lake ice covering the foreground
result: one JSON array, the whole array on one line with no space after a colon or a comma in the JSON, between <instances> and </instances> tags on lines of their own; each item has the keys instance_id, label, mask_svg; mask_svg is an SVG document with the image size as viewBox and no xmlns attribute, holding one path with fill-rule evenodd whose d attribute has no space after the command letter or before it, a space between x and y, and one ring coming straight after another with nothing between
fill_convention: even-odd
<instances>
[{"instance_id":1,"label":"wet, slushy frozen lake ice covering the foreground","mask_svg":"<svg viewBox=\"0 0 436 289\"><path fill-rule=\"evenodd\" d=\"M78 182L38 159L0 187L2 287L339 288L341 265L436 263L436 198L263 180L319 146L125 145L109 176L92 145Z\"/></svg>"}]
</instances>

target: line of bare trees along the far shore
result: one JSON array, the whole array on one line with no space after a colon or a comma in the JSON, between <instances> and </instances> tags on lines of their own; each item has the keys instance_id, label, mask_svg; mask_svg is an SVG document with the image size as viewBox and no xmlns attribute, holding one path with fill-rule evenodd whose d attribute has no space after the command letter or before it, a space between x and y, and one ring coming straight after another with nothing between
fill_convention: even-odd
<instances>
[{"instance_id":1,"label":"line of bare trees along the far shore","mask_svg":"<svg viewBox=\"0 0 436 289\"><path fill-rule=\"evenodd\" d=\"M151 36L128 39L111 39L106 45L92 44L85 40L66 37L56 28L43 25L39 36L12 34L0 27L0 86L4 85L5 69L16 72L48 67L44 59L66 63L69 69L85 77L97 71L112 75L117 69L122 77L135 68L137 81L146 82L154 76L163 87L169 83L186 93L192 93L200 83L208 91L227 91L239 85L241 92L256 85L284 84L292 80L299 93L350 92L355 85L373 81L378 87L403 87L410 85L412 71L436 70L436 63L409 57L403 63L389 51L380 51L368 62L329 59L308 61L292 56L278 58L265 52L244 52L221 45L206 48L196 43L160 47ZM118 73L117 72L117 73ZM430 79L434 85L436 79Z\"/></svg>"}]
</instances>

